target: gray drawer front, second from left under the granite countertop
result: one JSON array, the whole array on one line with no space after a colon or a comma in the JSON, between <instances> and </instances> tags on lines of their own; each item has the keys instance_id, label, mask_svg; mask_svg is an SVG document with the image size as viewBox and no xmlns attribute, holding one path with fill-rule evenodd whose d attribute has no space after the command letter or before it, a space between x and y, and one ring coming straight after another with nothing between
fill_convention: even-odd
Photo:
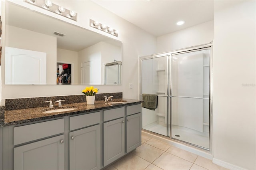
<instances>
[{"instance_id":1,"label":"gray drawer front, second from left under the granite countertop","mask_svg":"<svg viewBox=\"0 0 256 170\"><path fill-rule=\"evenodd\" d=\"M69 130L88 127L100 123L100 112L85 115L73 116L69 118Z\"/></svg>"}]
</instances>

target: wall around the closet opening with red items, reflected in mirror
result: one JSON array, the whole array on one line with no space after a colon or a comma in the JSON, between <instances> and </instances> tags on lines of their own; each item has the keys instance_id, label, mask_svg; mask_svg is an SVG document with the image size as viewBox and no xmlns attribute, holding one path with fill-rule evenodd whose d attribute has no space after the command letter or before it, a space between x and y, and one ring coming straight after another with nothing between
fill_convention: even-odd
<instances>
[{"instance_id":1,"label":"wall around the closet opening with red items, reflected in mirror","mask_svg":"<svg viewBox=\"0 0 256 170\"><path fill-rule=\"evenodd\" d=\"M81 67L80 65L78 65L78 52L57 48L57 61L66 61L68 63L73 63L73 68L71 68L71 80L72 83L78 83L78 70L80 69L77 68Z\"/></svg>"}]
</instances>

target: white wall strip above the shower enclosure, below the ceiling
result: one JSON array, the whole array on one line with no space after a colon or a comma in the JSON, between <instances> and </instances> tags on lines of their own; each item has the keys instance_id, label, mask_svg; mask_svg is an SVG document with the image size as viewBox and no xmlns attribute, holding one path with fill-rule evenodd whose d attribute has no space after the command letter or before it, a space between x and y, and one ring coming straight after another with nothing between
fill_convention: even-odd
<instances>
[{"instance_id":1,"label":"white wall strip above the shower enclosure, below the ceiling","mask_svg":"<svg viewBox=\"0 0 256 170\"><path fill-rule=\"evenodd\" d=\"M157 38L157 53L173 51L212 42L214 21L172 32Z\"/></svg>"}]
</instances>

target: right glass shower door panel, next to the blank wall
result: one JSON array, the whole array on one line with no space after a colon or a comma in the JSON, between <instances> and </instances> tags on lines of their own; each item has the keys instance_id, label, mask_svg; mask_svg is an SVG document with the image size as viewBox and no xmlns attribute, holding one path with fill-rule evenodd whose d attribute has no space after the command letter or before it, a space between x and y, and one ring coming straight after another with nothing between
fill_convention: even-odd
<instances>
[{"instance_id":1,"label":"right glass shower door panel, next to the blank wall","mask_svg":"<svg viewBox=\"0 0 256 170\"><path fill-rule=\"evenodd\" d=\"M210 49L172 54L172 138L209 149Z\"/></svg>"}]
</instances>

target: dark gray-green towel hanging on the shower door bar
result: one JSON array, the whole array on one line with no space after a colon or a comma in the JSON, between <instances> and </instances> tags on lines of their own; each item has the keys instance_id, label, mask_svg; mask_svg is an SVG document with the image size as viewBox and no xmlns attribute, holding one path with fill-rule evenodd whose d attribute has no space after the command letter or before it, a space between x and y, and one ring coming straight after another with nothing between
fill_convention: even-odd
<instances>
[{"instance_id":1,"label":"dark gray-green towel hanging on the shower door bar","mask_svg":"<svg viewBox=\"0 0 256 170\"><path fill-rule=\"evenodd\" d=\"M142 107L150 110L156 110L158 104L158 97L154 94L142 94Z\"/></svg>"}]
</instances>

